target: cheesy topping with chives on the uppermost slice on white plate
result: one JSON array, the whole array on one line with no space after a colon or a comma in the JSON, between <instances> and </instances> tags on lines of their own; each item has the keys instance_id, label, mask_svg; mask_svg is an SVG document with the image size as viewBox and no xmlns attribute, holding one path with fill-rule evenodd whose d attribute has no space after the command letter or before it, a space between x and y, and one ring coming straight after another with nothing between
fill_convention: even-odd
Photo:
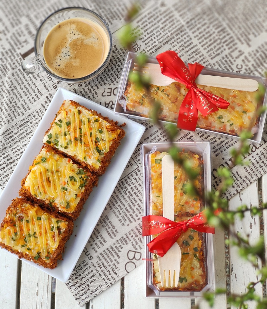
<instances>
[{"instance_id":1,"label":"cheesy topping with chives on the uppermost slice on white plate","mask_svg":"<svg viewBox=\"0 0 267 309\"><path fill-rule=\"evenodd\" d=\"M98 168L119 132L89 110L65 100L44 142Z\"/></svg>"}]
</instances>

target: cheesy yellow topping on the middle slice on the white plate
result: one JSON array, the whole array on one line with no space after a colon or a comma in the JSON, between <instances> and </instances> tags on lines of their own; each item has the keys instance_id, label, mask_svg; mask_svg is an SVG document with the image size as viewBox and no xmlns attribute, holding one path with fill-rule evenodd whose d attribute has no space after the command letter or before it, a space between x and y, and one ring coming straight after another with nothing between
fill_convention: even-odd
<instances>
[{"instance_id":1,"label":"cheesy yellow topping on the middle slice on the white plate","mask_svg":"<svg viewBox=\"0 0 267 309\"><path fill-rule=\"evenodd\" d=\"M60 210L73 212L77 206L88 176L70 159L43 148L34 160L25 187L31 195L45 200Z\"/></svg>"}]
</instances>

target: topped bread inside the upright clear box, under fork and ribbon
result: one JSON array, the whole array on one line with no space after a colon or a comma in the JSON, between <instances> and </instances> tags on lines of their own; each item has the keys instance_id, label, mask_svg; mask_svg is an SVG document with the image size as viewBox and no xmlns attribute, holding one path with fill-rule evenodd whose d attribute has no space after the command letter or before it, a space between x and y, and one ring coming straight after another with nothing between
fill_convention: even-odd
<instances>
[{"instance_id":1,"label":"topped bread inside the upright clear box, under fork and ribbon","mask_svg":"<svg viewBox=\"0 0 267 309\"><path fill-rule=\"evenodd\" d=\"M152 215L163 216L162 192L162 158L167 152L155 151L150 158L150 211ZM191 151L181 151L179 155L190 162L192 169L198 171L194 185L199 192L204 193L203 159L201 155ZM183 222L202 211L203 201L198 196L189 194L186 184L189 183L188 175L181 166L174 163L174 221ZM156 235L154 235L155 237ZM177 287L166 285L166 280L161 285L158 266L158 257L153 258L153 284L159 290L201 291L207 285L205 237L202 233L188 229L177 239L181 248L181 267Z\"/></svg>"}]
</instances>

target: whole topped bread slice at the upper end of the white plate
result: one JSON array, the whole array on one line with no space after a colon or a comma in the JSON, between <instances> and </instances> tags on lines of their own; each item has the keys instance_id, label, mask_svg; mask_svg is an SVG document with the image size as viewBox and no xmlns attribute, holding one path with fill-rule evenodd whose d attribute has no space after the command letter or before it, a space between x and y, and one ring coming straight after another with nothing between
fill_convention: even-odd
<instances>
[{"instance_id":1,"label":"whole topped bread slice at the upper end of the white plate","mask_svg":"<svg viewBox=\"0 0 267 309\"><path fill-rule=\"evenodd\" d=\"M124 130L109 118L65 100L43 142L102 175L124 135Z\"/></svg>"}]
</instances>

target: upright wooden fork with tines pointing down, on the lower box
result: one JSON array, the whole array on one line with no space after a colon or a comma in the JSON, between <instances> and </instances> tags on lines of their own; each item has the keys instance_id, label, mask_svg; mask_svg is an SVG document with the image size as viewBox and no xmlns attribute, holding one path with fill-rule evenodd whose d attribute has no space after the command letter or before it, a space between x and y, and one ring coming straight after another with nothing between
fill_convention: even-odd
<instances>
[{"instance_id":1,"label":"upright wooden fork with tines pointing down, on the lower box","mask_svg":"<svg viewBox=\"0 0 267 309\"><path fill-rule=\"evenodd\" d=\"M173 159L170 155L165 155L161 161L162 164L162 194L163 194L163 217L173 220L174 218L174 176L173 176ZM160 269L161 286L164 285L164 272L167 286L173 286L173 277L175 277L175 285L178 285L181 249L178 243L167 251L161 257L158 256L158 264ZM169 282L170 278L170 282Z\"/></svg>"}]
</instances>

